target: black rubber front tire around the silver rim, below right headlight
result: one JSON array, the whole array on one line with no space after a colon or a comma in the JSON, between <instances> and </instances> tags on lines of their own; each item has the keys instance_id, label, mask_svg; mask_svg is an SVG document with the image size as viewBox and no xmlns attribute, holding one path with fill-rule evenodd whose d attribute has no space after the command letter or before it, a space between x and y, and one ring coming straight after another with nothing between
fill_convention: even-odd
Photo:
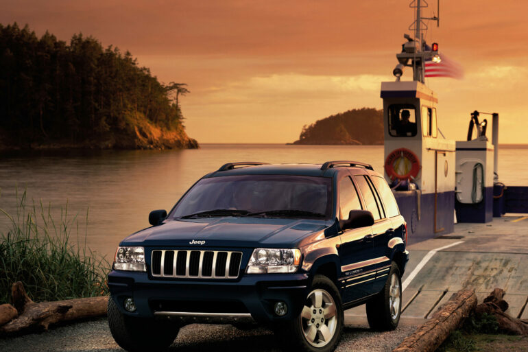
<instances>
[{"instance_id":1,"label":"black rubber front tire around the silver rim, below right headlight","mask_svg":"<svg viewBox=\"0 0 528 352\"><path fill-rule=\"evenodd\" d=\"M330 339L330 342L326 343L323 347L314 347L311 345L304 336L304 327L302 325L303 313L301 312L301 314L299 314L299 316L293 320L274 327L275 336L280 343L280 346L283 347L285 351L332 352L335 350L339 340L341 339L341 333L343 331L344 325L344 313L339 291L335 287L333 281L324 275L315 275L313 278L309 292L315 292L315 290L323 290L331 296L335 303L334 316L336 320L334 321L335 332L333 333L333 337ZM309 296L307 297L307 302L309 301ZM328 320L326 320L326 317L322 319L325 319L324 324L326 325ZM304 321L306 322L307 320Z\"/></svg>"}]
</instances>

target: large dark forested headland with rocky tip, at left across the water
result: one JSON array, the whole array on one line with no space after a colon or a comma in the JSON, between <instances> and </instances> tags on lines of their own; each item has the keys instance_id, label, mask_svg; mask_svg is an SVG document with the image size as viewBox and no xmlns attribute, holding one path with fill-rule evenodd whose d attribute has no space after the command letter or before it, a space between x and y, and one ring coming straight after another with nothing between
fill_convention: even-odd
<instances>
[{"instance_id":1,"label":"large dark forested headland with rocky tip, at left across the water","mask_svg":"<svg viewBox=\"0 0 528 352\"><path fill-rule=\"evenodd\" d=\"M130 52L0 24L0 150L198 148L178 99Z\"/></svg>"}]
</instances>

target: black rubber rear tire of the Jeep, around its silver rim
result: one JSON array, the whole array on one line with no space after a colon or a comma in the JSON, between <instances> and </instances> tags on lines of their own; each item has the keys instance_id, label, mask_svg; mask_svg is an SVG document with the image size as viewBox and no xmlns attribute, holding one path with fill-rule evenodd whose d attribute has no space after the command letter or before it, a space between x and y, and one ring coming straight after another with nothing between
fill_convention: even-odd
<instances>
[{"instance_id":1,"label":"black rubber rear tire of the Jeep, around its silver rim","mask_svg":"<svg viewBox=\"0 0 528 352\"><path fill-rule=\"evenodd\" d=\"M397 291L396 293L399 299L396 304L397 309L391 311L391 282L393 277L396 280L397 287L395 290ZM387 281L385 281L385 286L383 286L383 290L367 302L367 320L371 329L376 331L389 331L398 327L402 308L401 288L400 270L398 269L398 265L393 261L389 270L389 276L387 277ZM396 317L394 317L394 312L397 313Z\"/></svg>"}]
</instances>

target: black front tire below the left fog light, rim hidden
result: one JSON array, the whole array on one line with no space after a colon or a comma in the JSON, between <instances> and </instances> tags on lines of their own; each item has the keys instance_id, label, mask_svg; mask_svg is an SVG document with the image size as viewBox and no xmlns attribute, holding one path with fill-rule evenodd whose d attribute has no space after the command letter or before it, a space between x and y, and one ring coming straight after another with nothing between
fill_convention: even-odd
<instances>
[{"instance_id":1,"label":"black front tire below the left fog light, rim hidden","mask_svg":"<svg viewBox=\"0 0 528 352\"><path fill-rule=\"evenodd\" d=\"M180 330L174 322L125 316L112 297L108 298L108 326L115 342L129 352L163 351Z\"/></svg>"}]
</instances>

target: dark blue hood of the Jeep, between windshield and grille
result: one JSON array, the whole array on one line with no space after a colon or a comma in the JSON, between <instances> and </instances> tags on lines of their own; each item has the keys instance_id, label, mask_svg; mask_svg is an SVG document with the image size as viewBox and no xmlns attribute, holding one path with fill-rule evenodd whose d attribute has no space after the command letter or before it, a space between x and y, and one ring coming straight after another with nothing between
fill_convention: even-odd
<instances>
[{"instance_id":1,"label":"dark blue hood of the Jeep, between windshield and grille","mask_svg":"<svg viewBox=\"0 0 528 352\"><path fill-rule=\"evenodd\" d=\"M125 238L126 246L285 247L328 227L324 220L266 218L202 218L166 220ZM191 244L192 241L204 244Z\"/></svg>"}]
</instances>

